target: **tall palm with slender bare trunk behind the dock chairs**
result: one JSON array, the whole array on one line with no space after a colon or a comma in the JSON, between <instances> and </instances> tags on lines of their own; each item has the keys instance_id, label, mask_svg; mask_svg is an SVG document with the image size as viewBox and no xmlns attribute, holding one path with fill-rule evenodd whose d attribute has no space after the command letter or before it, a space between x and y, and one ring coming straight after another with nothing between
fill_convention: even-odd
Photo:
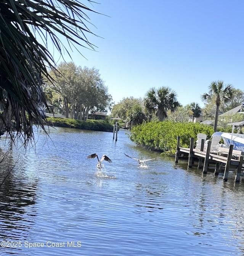
<instances>
[{"instance_id":1,"label":"tall palm with slender bare trunk behind the dock chairs","mask_svg":"<svg viewBox=\"0 0 244 256\"><path fill-rule=\"evenodd\" d=\"M218 111L220 103L228 103L233 99L233 87L231 84L224 85L222 80L213 81L209 85L209 93L204 93L201 95L202 101L206 101L208 98L215 99L216 111L215 111L215 122L214 131L217 131L218 124Z\"/></svg>"}]
</instances>

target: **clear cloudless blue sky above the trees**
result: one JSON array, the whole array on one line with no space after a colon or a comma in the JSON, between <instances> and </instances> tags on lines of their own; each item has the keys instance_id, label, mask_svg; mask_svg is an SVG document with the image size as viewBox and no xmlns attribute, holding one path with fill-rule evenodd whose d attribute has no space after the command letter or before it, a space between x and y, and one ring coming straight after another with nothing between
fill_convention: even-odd
<instances>
[{"instance_id":1,"label":"clear cloudless blue sky above the trees","mask_svg":"<svg viewBox=\"0 0 244 256\"><path fill-rule=\"evenodd\" d=\"M204 104L212 81L244 90L244 1L98 0L88 7L96 52L70 51L79 66L96 67L117 104L169 86L185 106ZM108 16L105 16L108 15ZM58 62L58 56L55 57ZM71 61L67 54L66 61Z\"/></svg>"}]
</instances>

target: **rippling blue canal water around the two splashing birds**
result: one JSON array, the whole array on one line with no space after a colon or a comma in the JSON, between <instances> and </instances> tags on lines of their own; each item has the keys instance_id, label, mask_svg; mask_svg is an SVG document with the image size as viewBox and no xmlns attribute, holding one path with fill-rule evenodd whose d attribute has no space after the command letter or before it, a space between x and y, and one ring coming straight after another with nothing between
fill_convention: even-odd
<instances>
[{"instance_id":1,"label":"rippling blue canal water around the two splashing birds","mask_svg":"<svg viewBox=\"0 0 244 256\"><path fill-rule=\"evenodd\" d=\"M188 170L136 147L123 130L117 142L108 132L37 134L35 150L13 147L8 157L15 168L0 187L1 205L9 204L0 255L244 255L244 183ZM7 142L0 139L2 150ZM112 163L98 173L92 153ZM139 168L124 153L158 158Z\"/></svg>"}]
</instances>

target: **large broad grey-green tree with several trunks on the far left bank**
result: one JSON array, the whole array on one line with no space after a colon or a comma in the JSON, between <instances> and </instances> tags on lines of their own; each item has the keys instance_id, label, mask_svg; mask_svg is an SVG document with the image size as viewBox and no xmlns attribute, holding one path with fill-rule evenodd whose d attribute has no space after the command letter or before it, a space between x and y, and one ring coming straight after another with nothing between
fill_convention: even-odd
<instances>
[{"instance_id":1,"label":"large broad grey-green tree with several trunks on the far left bank","mask_svg":"<svg viewBox=\"0 0 244 256\"><path fill-rule=\"evenodd\" d=\"M112 97L98 69L61 62L50 75L55 80L50 86L63 97L67 118L86 120L90 110L107 111Z\"/></svg>"}]
</instances>

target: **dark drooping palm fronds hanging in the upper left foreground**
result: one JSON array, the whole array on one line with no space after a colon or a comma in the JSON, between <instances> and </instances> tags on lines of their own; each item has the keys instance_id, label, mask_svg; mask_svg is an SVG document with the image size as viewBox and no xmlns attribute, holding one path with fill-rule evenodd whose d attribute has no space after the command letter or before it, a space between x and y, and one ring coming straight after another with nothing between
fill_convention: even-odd
<instances>
[{"instance_id":1,"label":"dark drooping palm fronds hanging in the upper left foreground","mask_svg":"<svg viewBox=\"0 0 244 256\"><path fill-rule=\"evenodd\" d=\"M93 34L85 25L85 11L92 10L79 0L0 0L0 10L0 122L26 145L34 138L34 122L45 130L42 83L51 80L48 69L55 68L49 39L61 56L67 49L60 35L69 45L94 49L85 36Z\"/></svg>"}]
</instances>

